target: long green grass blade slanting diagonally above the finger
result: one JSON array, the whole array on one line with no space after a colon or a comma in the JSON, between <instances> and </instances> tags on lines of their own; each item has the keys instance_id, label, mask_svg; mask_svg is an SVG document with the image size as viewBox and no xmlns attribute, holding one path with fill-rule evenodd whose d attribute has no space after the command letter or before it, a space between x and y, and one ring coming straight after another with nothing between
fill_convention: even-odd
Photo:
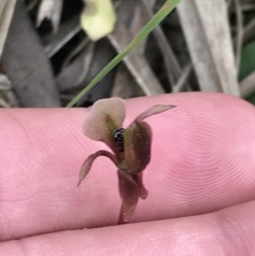
<instances>
[{"instance_id":1,"label":"long green grass blade slanting diagonally above the finger","mask_svg":"<svg viewBox=\"0 0 255 256\"><path fill-rule=\"evenodd\" d=\"M82 98L84 94L87 94L94 86L108 74L116 65L118 65L124 57L132 51L141 41L148 36L148 34L153 31L153 29L163 20L167 14L169 14L180 2L181 0L167 0L166 3L161 7L161 9L151 18L151 20L144 26L144 28L139 32L139 34L133 38L133 41L128 44L122 53L116 55L116 57L111 60L111 62L99 72L99 74L94 77L94 79L89 82L86 88L83 88L82 91L74 97L71 102L66 105L66 107L71 107L77 103L78 100Z\"/></svg>"}]
</instances>

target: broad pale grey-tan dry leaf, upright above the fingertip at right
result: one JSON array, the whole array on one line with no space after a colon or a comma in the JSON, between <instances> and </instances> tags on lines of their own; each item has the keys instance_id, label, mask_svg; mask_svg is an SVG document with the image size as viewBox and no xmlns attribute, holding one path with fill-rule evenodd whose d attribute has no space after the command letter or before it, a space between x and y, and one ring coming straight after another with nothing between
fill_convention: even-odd
<instances>
[{"instance_id":1,"label":"broad pale grey-tan dry leaf, upright above the fingertip at right","mask_svg":"<svg viewBox=\"0 0 255 256\"><path fill-rule=\"evenodd\" d=\"M201 90L240 96L225 0L183 0L178 14Z\"/></svg>"}]
</instances>

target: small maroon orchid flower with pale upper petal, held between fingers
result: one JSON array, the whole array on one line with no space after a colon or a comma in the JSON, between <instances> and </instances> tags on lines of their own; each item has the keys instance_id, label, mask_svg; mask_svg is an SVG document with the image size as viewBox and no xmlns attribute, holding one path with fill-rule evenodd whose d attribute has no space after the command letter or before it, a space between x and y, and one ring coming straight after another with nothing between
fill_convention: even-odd
<instances>
[{"instance_id":1,"label":"small maroon orchid flower with pale upper petal, held between fingers","mask_svg":"<svg viewBox=\"0 0 255 256\"><path fill-rule=\"evenodd\" d=\"M127 223L137 206L139 197L145 199L142 172L150 162L151 128L146 117L167 111L175 105L154 105L144 111L127 127L122 128L125 119L125 103L120 98L98 100L94 103L83 125L83 134L89 139L104 142L111 151L97 151L83 162L78 185L87 176L94 160L106 156L116 165L122 209L119 224Z\"/></svg>"}]
</instances>

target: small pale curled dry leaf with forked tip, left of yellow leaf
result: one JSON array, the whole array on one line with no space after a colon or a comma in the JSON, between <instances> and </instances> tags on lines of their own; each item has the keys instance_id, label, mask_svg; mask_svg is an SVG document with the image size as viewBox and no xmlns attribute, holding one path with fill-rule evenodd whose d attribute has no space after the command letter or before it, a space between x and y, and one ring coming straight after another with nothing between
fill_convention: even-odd
<instances>
[{"instance_id":1,"label":"small pale curled dry leaf with forked tip, left of yellow leaf","mask_svg":"<svg viewBox=\"0 0 255 256\"><path fill-rule=\"evenodd\" d=\"M54 32L56 33L59 28L62 7L63 0L42 0L37 15L37 26L41 25L42 20L48 19L51 21Z\"/></svg>"}]
</instances>

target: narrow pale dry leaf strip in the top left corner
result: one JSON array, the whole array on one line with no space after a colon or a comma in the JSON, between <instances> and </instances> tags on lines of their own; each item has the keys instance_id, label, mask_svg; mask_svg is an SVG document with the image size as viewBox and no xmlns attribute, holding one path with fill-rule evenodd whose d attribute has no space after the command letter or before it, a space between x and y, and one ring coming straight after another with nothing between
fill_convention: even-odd
<instances>
[{"instance_id":1,"label":"narrow pale dry leaf strip in the top left corner","mask_svg":"<svg viewBox=\"0 0 255 256\"><path fill-rule=\"evenodd\" d=\"M0 59L8 35L8 28L14 14L15 4L16 0L1 0L0 2Z\"/></svg>"}]
</instances>

